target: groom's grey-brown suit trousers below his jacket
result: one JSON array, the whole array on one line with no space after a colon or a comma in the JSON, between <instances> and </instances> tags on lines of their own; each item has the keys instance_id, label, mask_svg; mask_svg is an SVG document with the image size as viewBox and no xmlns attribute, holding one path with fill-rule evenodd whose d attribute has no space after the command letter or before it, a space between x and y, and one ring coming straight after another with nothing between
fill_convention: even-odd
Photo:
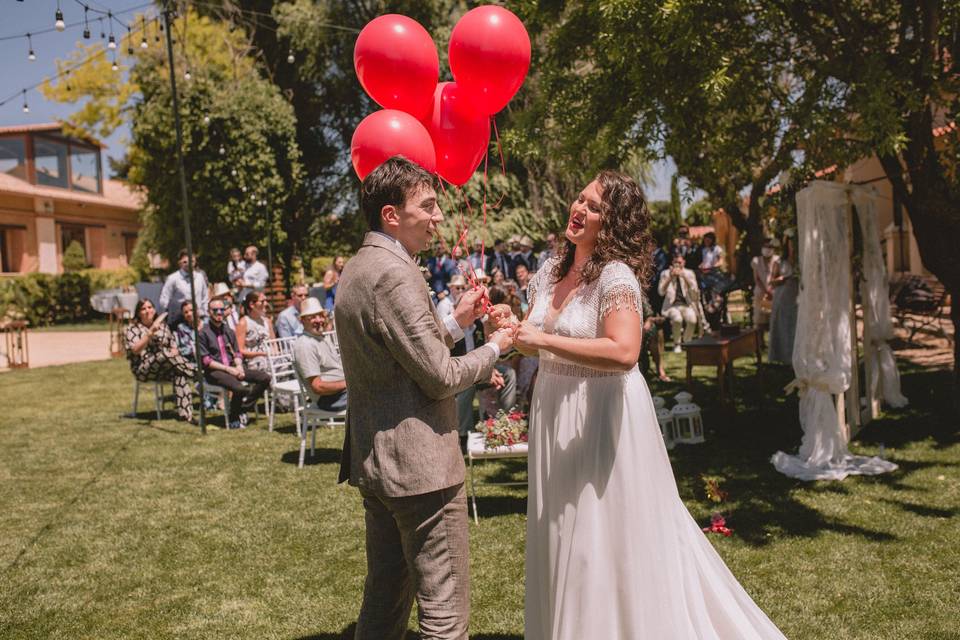
<instances>
[{"instance_id":1,"label":"groom's grey-brown suit trousers below his jacket","mask_svg":"<svg viewBox=\"0 0 960 640\"><path fill-rule=\"evenodd\" d=\"M422 640L466 640L470 618L463 483L392 498L360 489L367 579L355 640L402 640L416 598Z\"/></svg>"}]
</instances>

